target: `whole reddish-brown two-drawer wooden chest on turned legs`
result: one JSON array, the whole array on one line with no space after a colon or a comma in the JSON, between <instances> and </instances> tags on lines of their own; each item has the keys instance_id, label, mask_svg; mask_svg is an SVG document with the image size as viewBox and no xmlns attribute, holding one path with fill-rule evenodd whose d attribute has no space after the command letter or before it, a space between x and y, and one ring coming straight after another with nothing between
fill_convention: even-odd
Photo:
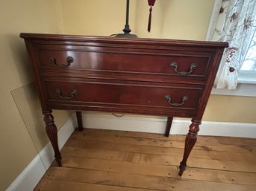
<instances>
[{"instance_id":1,"label":"whole reddish-brown two-drawer wooden chest on turned legs","mask_svg":"<svg viewBox=\"0 0 256 191\"><path fill-rule=\"evenodd\" d=\"M61 166L51 109L193 118L179 175L196 143L223 42L21 33L31 57L46 132ZM195 67L196 63L196 67Z\"/></svg>"}]
</instances>

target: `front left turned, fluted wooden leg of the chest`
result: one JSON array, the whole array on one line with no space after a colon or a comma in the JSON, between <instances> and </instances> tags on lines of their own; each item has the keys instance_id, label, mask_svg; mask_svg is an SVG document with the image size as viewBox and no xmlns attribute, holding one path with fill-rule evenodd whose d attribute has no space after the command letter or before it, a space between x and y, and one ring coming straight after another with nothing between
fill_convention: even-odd
<instances>
[{"instance_id":1,"label":"front left turned, fluted wooden leg of the chest","mask_svg":"<svg viewBox=\"0 0 256 191\"><path fill-rule=\"evenodd\" d=\"M51 146L54 149L54 158L57 161L57 165L62 166L60 150L57 144L57 127L54 124L54 117L51 114L51 110L43 111L43 114L43 120L46 123L46 133L51 141Z\"/></svg>"}]
</instances>

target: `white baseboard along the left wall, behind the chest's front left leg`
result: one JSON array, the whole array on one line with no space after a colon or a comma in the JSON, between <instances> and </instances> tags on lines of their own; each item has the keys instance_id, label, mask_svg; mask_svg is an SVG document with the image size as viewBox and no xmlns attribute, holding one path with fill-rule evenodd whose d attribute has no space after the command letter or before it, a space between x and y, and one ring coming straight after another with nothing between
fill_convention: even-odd
<instances>
[{"instance_id":1,"label":"white baseboard along the left wall, behind the chest's front left leg","mask_svg":"<svg viewBox=\"0 0 256 191\"><path fill-rule=\"evenodd\" d=\"M59 147L63 147L66 140L74 132L74 120L69 118L62 128L57 132ZM32 191L37 183L46 173L46 170L54 160L54 152L51 148L51 143L47 143L41 152L31 161L30 164L19 174L6 191Z\"/></svg>"}]
</instances>

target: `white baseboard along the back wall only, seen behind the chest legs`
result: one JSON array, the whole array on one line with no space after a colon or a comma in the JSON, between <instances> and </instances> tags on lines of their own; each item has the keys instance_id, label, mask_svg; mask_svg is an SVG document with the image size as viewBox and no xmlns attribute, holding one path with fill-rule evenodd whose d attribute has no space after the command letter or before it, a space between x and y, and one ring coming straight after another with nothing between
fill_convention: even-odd
<instances>
[{"instance_id":1,"label":"white baseboard along the back wall only, seen behind the chest legs","mask_svg":"<svg viewBox=\"0 0 256 191\"><path fill-rule=\"evenodd\" d=\"M83 114L84 127L92 129L113 129L131 132L164 133L166 117L134 117L124 115L115 117L110 114ZM171 135L186 135L190 126L190 120L172 121ZM249 137L256 138L255 123L226 123L202 121L199 135Z\"/></svg>"}]
</instances>

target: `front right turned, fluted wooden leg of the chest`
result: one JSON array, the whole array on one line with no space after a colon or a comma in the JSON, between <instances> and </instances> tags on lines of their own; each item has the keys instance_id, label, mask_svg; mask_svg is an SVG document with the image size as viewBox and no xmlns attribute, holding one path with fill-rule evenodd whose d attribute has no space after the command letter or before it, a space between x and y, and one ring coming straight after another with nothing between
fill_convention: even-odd
<instances>
[{"instance_id":1,"label":"front right turned, fluted wooden leg of the chest","mask_svg":"<svg viewBox=\"0 0 256 191\"><path fill-rule=\"evenodd\" d=\"M193 119L191 121L192 121L192 124L190 125L190 130L185 140L183 159L179 166L180 171L178 172L178 175L180 176L183 174L184 170L187 167L187 158L189 157L190 152L192 151L194 145L196 144L197 132L199 132L199 125L201 124L201 120Z\"/></svg>"}]
</instances>

